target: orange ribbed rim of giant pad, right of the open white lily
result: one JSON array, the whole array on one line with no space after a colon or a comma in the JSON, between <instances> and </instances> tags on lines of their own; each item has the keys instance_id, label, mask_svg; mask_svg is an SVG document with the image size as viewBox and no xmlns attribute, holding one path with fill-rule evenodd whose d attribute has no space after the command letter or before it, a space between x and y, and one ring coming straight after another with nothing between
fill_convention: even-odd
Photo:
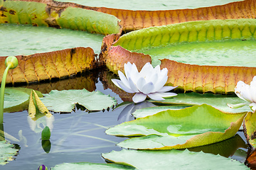
<instances>
[{"instance_id":1,"label":"orange ribbed rim of giant pad, right of the open white lily","mask_svg":"<svg viewBox=\"0 0 256 170\"><path fill-rule=\"evenodd\" d=\"M256 67L199 66L172 60L161 60L161 69L168 69L166 86L176 90L230 94L238 81L248 84L256 75Z\"/></svg>"}]
</instances>

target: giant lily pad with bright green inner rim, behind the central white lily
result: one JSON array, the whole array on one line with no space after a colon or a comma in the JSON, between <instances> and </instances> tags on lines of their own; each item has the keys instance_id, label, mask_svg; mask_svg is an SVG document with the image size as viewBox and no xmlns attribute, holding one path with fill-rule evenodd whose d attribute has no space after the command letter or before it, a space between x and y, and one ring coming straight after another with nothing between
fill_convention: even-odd
<instances>
[{"instance_id":1,"label":"giant lily pad with bright green inner rim, behind the central white lily","mask_svg":"<svg viewBox=\"0 0 256 170\"><path fill-rule=\"evenodd\" d=\"M105 56L106 65L110 71L116 73L117 69L123 70L122 64L129 62L129 60L121 55L121 51L123 51L122 48L132 50L133 53L130 52L130 55L134 56L133 58L136 60L133 62L136 64L148 60L145 60L144 56L146 55L142 57L134 52L146 53L148 50L156 50L157 55L155 57L151 56L153 63L154 60L165 58L161 60L161 68L166 67L169 70L166 85L178 86L176 89L183 91L211 91L215 94L228 94L234 91L235 85L239 80L245 81L246 83L250 82L252 77L256 74L255 52L253 52L255 49L255 26L256 21L254 19L237 19L191 21L168 26L145 28L122 35L114 42L113 46L116 47L109 47L107 52L102 52L102 55ZM246 47L240 47L241 43L246 45ZM200 64L203 63L202 65L188 64L186 61L191 60L189 56L188 58L184 58L184 56L169 57L171 60L168 60L166 59L166 54L161 55L161 52L168 51L168 48L171 49L169 51L176 52L178 47L186 49L189 48L186 47L186 45L191 45L191 49L195 46L199 49L203 48L204 45L202 44L205 44L205 48L199 50L201 55L198 55L198 52L194 52L193 54L193 59L195 59L197 63L200 61ZM230 50L230 48L227 50L225 45L237 47L237 50ZM223 47L223 54L219 54L220 46ZM215 49L213 47L215 47ZM165 50L165 48L167 50ZM119 55L112 55L113 49L115 49L116 53ZM209 52L206 52L206 50L213 50L215 54L218 53L218 57L215 57L214 52L214 57L208 56ZM188 50L188 52L191 53L191 50ZM247 55L251 56L248 60L242 60L242 62L246 62L246 64L239 61L238 64L235 64L236 66L230 66L233 65L234 62L228 64L228 62L225 61L223 61L225 63L220 63L220 66L216 66L215 64L219 62L222 57L228 57L228 61L233 61L234 57L238 56L237 54L245 55L245 52L248 52ZM169 52L167 53L169 54ZM211 61L208 57L211 58ZM112 67L112 65L119 66L119 59L121 58L121 67ZM175 61L177 58L180 62ZM215 60L212 60L212 58L215 58ZM202 60L204 62L202 62ZM185 61L186 63L181 63L181 61ZM249 64L250 62L252 64Z\"/></svg>"}]
</instances>

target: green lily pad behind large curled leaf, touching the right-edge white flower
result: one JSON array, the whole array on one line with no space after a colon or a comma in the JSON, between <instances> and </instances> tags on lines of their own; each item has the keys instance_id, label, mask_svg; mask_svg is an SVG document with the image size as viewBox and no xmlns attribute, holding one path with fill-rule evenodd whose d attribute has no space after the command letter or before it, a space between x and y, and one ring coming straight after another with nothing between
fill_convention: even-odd
<instances>
[{"instance_id":1,"label":"green lily pad behind large curled leaf, touching the right-edge white flower","mask_svg":"<svg viewBox=\"0 0 256 170\"><path fill-rule=\"evenodd\" d=\"M198 93L186 93L178 94L174 98L166 98L164 101L151 101L152 103L160 103L166 105L201 105L208 104L214 108L219 109L220 111L228 113L242 113L252 111L249 106L243 106L242 108L230 108L227 103L238 104L245 103L241 98L234 95L222 95L222 94L198 94Z\"/></svg>"}]
</instances>

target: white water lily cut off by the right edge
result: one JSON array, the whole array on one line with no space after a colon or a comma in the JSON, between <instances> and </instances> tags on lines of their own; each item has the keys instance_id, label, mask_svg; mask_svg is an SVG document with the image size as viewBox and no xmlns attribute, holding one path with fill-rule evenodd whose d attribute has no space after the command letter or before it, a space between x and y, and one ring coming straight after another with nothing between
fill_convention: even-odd
<instances>
[{"instance_id":1,"label":"white water lily cut off by the right edge","mask_svg":"<svg viewBox=\"0 0 256 170\"><path fill-rule=\"evenodd\" d=\"M240 104L228 104L230 108L240 108L245 105L249 105L253 112L256 111L256 76L253 77L250 85L245 84L243 81L238 81L237 86L235 86L235 94L246 103Z\"/></svg>"}]
</instances>

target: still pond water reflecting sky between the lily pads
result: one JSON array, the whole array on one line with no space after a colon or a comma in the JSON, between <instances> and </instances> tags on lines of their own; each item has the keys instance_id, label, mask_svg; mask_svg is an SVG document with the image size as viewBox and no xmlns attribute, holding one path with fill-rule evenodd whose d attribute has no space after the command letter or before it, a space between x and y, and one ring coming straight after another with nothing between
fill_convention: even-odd
<instances>
[{"instance_id":1,"label":"still pond water reflecting sky between the lily pads","mask_svg":"<svg viewBox=\"0 0 256 170\"><path fill-rule=\"evenodd\" d=\"M104 75L109 76L109 74ZM56 86L56 83L68 84L65 81L70 80L69 82L72 84L70 86L73 86L74 89L82 89L87 88L88 85L86 83L81 85L80 79L88 79L87 76L48 84L33 84L26 87L41 89L42 92L43 89L44 91L50 91L60 88ZM127 98L120 98L118 94L113 92L113 89L106 89L107 82L101 80L106 80L106 78L97 79L95 82L97 91L110 94L110 96L117 99L117 103L127 100ZM68 86L66 88L68 89ZM129 111L124 112L122 106L114 110L110 109L110 111L93 113L76 109L72 113L53 113L53 116L54 120L46 122L45 117L42 117L35 123L31 121L27 111L4 113L4 131L16 137L20 142L15 142L6 135L6 139L10 140L19 149L19 152L14 157L14 161L1 166L1 169L37 169L41 164L50 168L63 162L105 163L101 154L112 150L121 150L116 144L127 139L126 137L106 135L105 130L124 121L134 119ZM48 153L44 151L41 144L41 130L45 125L53 126L50 137L51 147ZM203 150L203 152L220 154L224 157L232 157L240 162L245 162L247 156L247 145L242 132L238 132L238 135L230 140L190 150L194 152Z\"/></svg>"}]
</instances>

